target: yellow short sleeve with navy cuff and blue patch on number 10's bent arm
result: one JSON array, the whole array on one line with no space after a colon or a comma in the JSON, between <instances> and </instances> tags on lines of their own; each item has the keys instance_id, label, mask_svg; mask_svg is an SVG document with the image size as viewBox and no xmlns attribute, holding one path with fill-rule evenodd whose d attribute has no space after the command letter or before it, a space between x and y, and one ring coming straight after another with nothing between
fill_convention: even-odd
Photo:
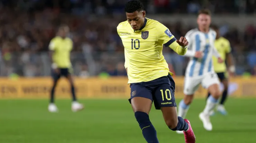
<instances>
[{"instance_id":1,"label":"yellow short sleeve with navy cuff and blue patch on number 10's bent arm","mask_svg":"<svg viewBox=\"0 0 256 143\"><path fill-rule=\"evenodd\" d=\"M162 23L158 23L156 25L156 33L158 33L158 42L164 44L165 47L170 46L173 42L176 41L174 35L170 32L170 30L164 26Z\"/></svg>"}]
</instances>

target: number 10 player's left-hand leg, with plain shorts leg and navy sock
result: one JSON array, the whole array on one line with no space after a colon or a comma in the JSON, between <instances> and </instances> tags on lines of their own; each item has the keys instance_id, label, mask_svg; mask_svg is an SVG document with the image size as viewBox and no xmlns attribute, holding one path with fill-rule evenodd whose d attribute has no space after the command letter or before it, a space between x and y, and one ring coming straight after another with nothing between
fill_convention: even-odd
<instances>
[{"instance_id":1,"label":"number 10 player's left-hand leg, with plain shorts leg and navy sock","mask_svg":"<svg viewBox=\"0 0 256 143\"><path fill-rule=\"evenodd\" d=\"M152 107L152 91L141 84L131 84L131 103L135 118L148 143L159 143L156 130L149 120L149 111Z\"/></svg>"}]
</instances>

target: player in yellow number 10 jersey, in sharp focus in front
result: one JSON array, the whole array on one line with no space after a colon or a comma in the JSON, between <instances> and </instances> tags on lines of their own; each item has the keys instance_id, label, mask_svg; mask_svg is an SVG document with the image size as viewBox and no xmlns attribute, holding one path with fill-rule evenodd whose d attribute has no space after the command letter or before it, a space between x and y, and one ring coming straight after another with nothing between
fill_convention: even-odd
<instances>
[{"instance_id":1,"label":"player in yellow number 10 jersey, in sharp focus in front","mask_svg":"<svg viewBox=\"0 0 256 143\"><path fill-rule=\"evenodd\" d=\"M185 37L176 40L163 24L146 18L139 0L128 1L125 12L127 21L117 26L117 32L125 48L125 68L131 88L129 101L145 140L159 143L148 116L154 102L155 108L162 111L167 126L173 131L184 131L185 142L194 143L190 122L177 117L173 74L162 54L165 45L184 55L188 41Z\"/></svg>"}]
</instances>

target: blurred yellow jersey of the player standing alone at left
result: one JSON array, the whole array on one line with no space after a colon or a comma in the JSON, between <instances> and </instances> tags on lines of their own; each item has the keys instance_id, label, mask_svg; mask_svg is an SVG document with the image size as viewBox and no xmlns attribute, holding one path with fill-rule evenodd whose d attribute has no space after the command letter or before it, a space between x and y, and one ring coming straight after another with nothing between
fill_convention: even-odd
<instances>
[{"instance_id":1,"label":"blurred yellow jersey of the player standing alone at left","mask_svg":"<svg viewBox=\"0 0 256 143\"><path fill-rule=\"evenodd\" d=\"M68 37L63 39L60 36L56 36L51 40L49 50L54 51L52 59L58 68L71 67L70 52L72 48L73 42Z\"/></svg>"}]
</instances>

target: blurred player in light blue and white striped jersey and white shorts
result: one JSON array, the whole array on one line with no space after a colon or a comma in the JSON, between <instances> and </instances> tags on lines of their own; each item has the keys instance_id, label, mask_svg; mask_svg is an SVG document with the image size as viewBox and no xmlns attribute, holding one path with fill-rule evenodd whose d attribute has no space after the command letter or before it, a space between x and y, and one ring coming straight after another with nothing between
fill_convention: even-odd
<instances>
[{"instance_id":1,"label":"blurred player in light blue and white striped jersey and white shorts","mask_svg":"<svg viewBox=\"0 0 256 143\"><path fill-rule=\"evenodd\" d=\"M201 84L208 89L211 96L208 98L206 106L199 114L203 126L206 130L212 130L209 115L215 108L221 95L219 90L219 79L212 66L212 55L217 57L222 63L218 51L214 47L216 32L210 29L211 13L209 10L201 10L197 18L198 28L190 30L185 37L190 41L188 52L185 56L190 57L190 62L186 68L184 81L184 99L179 104L178 115L185 118L189 105L193 101L194 92ZM180 133L179 131L177 131Z\"/></svg>"}]
</instances>

